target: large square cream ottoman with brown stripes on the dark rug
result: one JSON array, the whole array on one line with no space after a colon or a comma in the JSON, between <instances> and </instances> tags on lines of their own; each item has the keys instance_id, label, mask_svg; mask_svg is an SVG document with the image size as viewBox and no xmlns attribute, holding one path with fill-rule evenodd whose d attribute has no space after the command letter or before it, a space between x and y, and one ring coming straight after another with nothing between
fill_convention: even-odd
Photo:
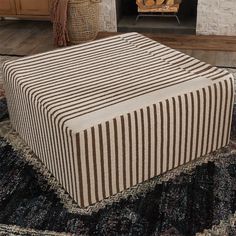
<instances>
[{"instance_id":1,"label":"large square cream ottoman with brown stripes on the dark rug","mask_svg":"<svg viewBox=\"0 0 236 236\"><path fill-rule=\"evenodd\" d=\"M13 127L81 207L229 142L232 75L137 33L3 71Z\"/></svg>"}]
</instances>

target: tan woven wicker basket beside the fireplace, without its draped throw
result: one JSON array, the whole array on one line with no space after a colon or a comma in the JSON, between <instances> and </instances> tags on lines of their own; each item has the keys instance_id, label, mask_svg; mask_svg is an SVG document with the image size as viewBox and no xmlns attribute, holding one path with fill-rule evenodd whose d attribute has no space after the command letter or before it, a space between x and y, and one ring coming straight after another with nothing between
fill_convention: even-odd
<instances>
[{"instance_id":1,"label":"tan woven wicker basket beside the fireplace, without its draped throw","mask_svg":"<svg viewBox=\"0 0 236 236\"><path fill-rule=\"evenodd\" d=\"M98 33L100 0L69 0L67 27L70 44L93 40Z\"/></svg>"}]
</instances>

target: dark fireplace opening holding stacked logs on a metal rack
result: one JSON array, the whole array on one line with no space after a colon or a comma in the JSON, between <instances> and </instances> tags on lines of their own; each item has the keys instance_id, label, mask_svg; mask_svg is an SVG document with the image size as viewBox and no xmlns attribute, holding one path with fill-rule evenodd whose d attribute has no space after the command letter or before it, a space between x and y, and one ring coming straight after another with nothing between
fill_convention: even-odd
<instances>
[{"instance_id":1,"label":"dark fireplace opening holding stacked logs on a metal rack","mask_svg":"<svg viewBox=\"0 0 236 236\"><path fill-rule=\"evenodd\" d=\"M196 34L197 0L116 0L118 32Z\"/></svg>"}]
</instances>

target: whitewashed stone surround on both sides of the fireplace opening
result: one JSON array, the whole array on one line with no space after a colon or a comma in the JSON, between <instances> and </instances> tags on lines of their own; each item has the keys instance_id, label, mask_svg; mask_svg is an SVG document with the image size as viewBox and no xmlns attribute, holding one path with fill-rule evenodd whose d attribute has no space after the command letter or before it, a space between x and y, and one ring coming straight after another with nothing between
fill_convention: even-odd
<instances>
[{"instance_id":1,"label":"whitewashed stone surround on both sides of the fireplace opening","mask_svg":"<svg viewBox=\"0 0 236 236\"><path fill-rule=\"evenodd\" d=\"M117 31L118 4L117 0L101 0L101 31ZM198 0L196 33L236 36L235 0Z\"/></svg>"}]
</instances>

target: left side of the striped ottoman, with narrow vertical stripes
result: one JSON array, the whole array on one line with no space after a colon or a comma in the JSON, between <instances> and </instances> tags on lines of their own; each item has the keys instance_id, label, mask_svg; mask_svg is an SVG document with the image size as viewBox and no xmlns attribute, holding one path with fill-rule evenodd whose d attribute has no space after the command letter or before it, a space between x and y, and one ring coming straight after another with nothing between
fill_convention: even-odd
<instances>
[{"instance_id":1,"label":"left side of the striped ottoman, with narrow vertical stripes","mask_svg":"<svg viewBox=\"0 0 236 236\"><path fill-rule=\"evenodd\" d=\"M11 62L12 63L12 62ZM58 126L57 121L38 102L31 89L33 83L25 83L20 76L24 66L13 63L4 66L4 85L13 127L31 147L34 153L57 178L60 184L74 196L71 178L71 135Z\"/></svg>"}]
</instances>

